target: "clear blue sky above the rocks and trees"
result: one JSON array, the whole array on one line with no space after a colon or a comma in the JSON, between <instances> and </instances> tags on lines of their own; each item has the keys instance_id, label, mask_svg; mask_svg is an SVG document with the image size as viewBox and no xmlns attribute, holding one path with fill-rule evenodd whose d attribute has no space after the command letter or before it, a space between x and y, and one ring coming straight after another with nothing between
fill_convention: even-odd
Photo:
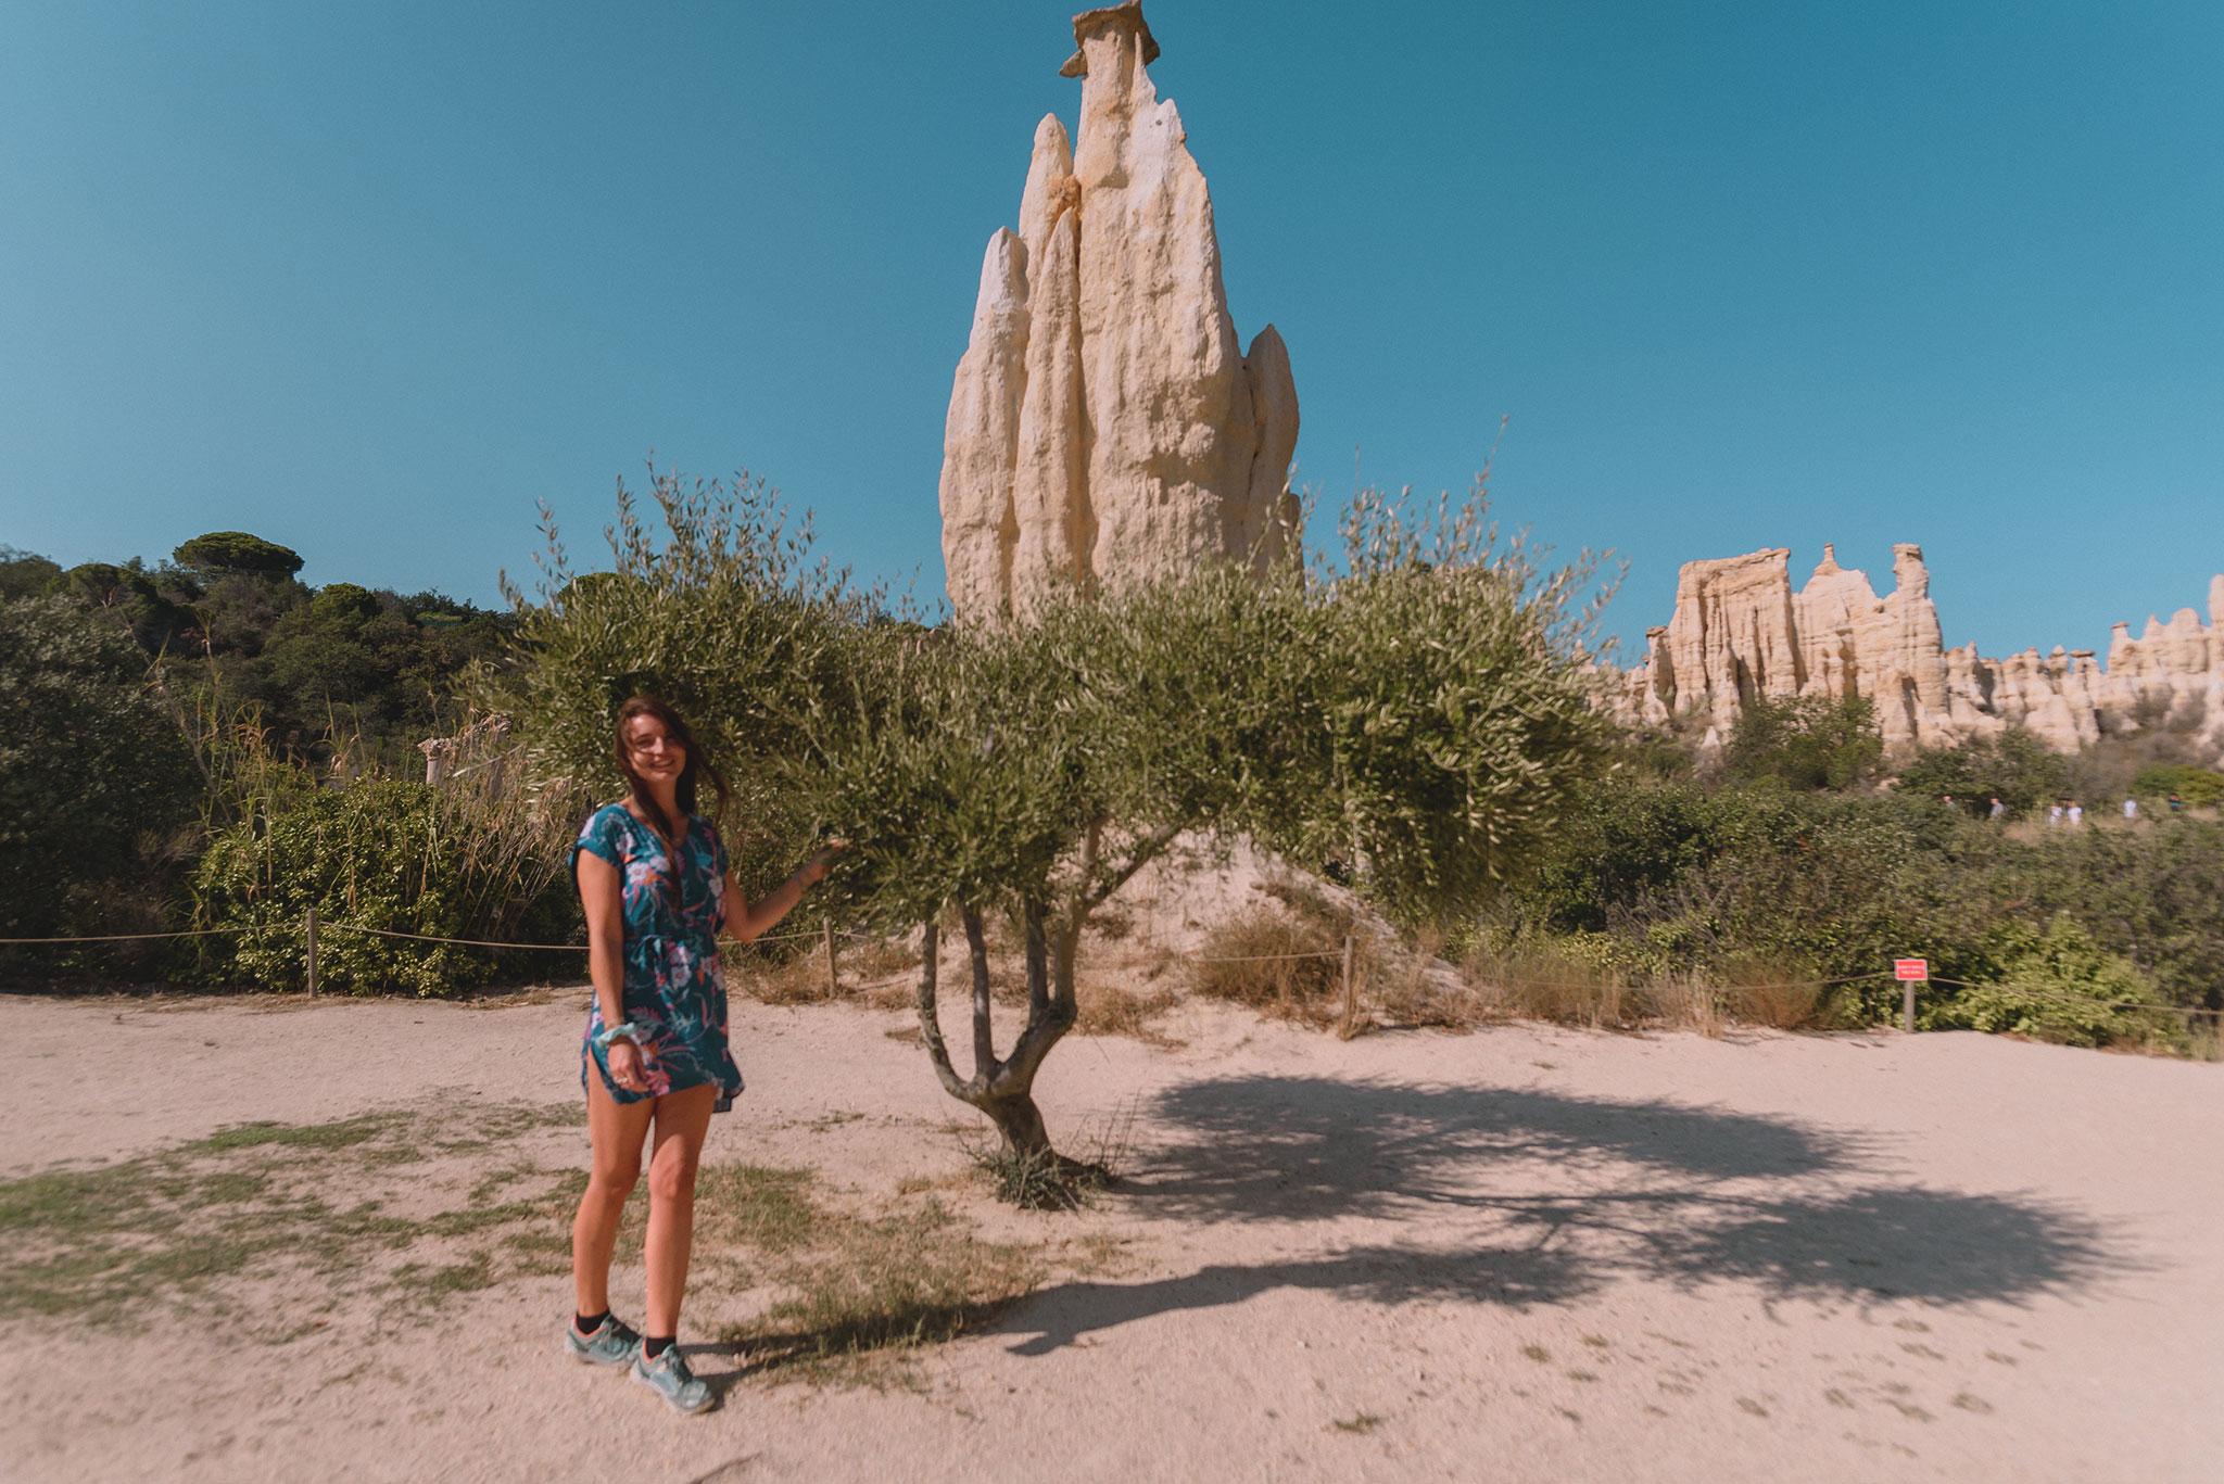
<instances>
[{"instance_id":1,"label":"clear blue sky above the rocks and trees","mask_svg":"<svg viewBox=\"0 0 2224 1484\"><path fill-rule=\"evenodd\" d=\"M1675 570L1917 541L1948 643L2224 572L2224 4L1150 0L1299 478ZM941 598L1056 2L44 0L0 24L0 543L494 601L652 449ZM2206 614L2204 614L2206 616Z\"/></svg>"}]
</instances>

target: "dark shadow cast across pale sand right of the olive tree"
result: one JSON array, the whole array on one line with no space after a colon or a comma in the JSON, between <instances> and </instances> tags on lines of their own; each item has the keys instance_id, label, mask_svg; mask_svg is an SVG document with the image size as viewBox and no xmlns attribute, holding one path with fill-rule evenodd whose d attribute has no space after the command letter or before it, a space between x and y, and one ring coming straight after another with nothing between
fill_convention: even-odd
<instances>
[{"instance_id":1,"label":"dark shadow cast across pale sand right of the olive tree","mask_svg":"<svg viewBox=\"0 0 2224 1484\"><path fill-rule=\"evenodd\" d=\"M1174 1130L1123 1193L1197 1224L1426 1221L1326 1257L1072 1282L1005 1319L1045 1355L1170 1310L1312 1288L1377 1304L1561 1304L1610 1284L1744 1282L1770 1299L2024 1302L2139 1264L2059 1201L1890 1179L1833 1130L1666 1101L1326 1077L1170 1088Z\"/></svg>"}]
</instances>

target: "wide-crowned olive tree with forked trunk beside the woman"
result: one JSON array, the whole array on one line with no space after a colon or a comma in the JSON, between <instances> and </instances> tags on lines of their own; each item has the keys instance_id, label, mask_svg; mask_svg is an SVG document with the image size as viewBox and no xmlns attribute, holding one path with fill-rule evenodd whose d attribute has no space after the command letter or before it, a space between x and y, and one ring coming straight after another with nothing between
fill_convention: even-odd
<instances>
[{"instance_id":1,"label":"wide-crowned olive tree with forked trunk beside the woman","mask_svg":"<svg viewBox=\"0 0 2224 1484\"><path fill-rule=\"evenodd\" d=\"M543 596L518 598L529 663L496 701L545 768L589 779L616 703L656 690L763 810L847 837L830 910L921 930L936 1077L1010 1152L1048 1157L1034 1084L1076 1019L1083 928L1183 834L1350 852L1386 901L1439 917L1539 850L1604 743L1588 567L1541 572L1479 496L1363 492L1337 563L1063 587L1025 621L925 632L814 565L807 525L790 532L761 485L658 476L663 532L620 492L612 572L574 576L552 532ZM945 914L965 934L970 1075L939 1015ZM1021 928L1027 981L1001 1055L996 914Z\"/></svg>"}]
</instances>

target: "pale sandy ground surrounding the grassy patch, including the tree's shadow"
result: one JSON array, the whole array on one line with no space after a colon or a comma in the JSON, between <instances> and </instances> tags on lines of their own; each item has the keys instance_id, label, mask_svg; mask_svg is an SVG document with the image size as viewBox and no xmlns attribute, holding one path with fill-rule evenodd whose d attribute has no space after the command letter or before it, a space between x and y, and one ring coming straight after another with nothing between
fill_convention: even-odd
<instances>
[{"instance_id":1,"label":"pale sandy ground surrounding the grassy patch, including the tree's shadow","mask_svg":"<svg viewBox=\"0 0 2224 1484\"><path fill-rule=\"evenodd\" d=\"M578 1001L0 997L0 1173L245 1119L576 1095ZM709 1159L872 1201L963 1168L903 1017L736 1003ZM9 1480L2211 1480L2224 1068L1975 1035L1339 1043L1181 1008L1068 1041L1054 1132L1132 1115L1132 1177L1052 1277L907 1384L736 1375L681 1419L558 1355L569 1284L287 1344L147 1315L9 1322ZM563 1157L576 1130L552 1130ZM745 1297L745 1295L743 1295ZM716 1333L736 1295L689 1299ZM618 1284L638 1310L638 1273ZM282 1317L282 1315L280 1315Z\"/></svg>"}]
</instances>

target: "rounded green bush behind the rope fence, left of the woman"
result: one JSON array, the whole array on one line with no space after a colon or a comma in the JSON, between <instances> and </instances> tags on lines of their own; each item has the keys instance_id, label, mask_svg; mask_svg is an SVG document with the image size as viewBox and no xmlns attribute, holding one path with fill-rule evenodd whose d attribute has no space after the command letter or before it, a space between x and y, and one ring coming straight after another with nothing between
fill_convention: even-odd
<instances>
[{"instance_id":1,"label":"rounded green bush behind the rope fence, left of the woman","mask_svg":"<svg viewBox=\"0 0 2224 1484\"><path fill-rule=\"evenodd\" d=\"M340 992L451 995L485 983L503 954L454 943L387 939L383 928L483 941L563 943L578 930L556 837L569 814L529 799L489 812L456 794L398 779L307 790L271 814L225 828L193 872L198 919L236 934L211 948L200 975L302 988L305 923L320 919L318 977ZM512 968L540 966L509 954ZM576 954L560 963L576 966Z\"/></svg>"}]
</instances>

